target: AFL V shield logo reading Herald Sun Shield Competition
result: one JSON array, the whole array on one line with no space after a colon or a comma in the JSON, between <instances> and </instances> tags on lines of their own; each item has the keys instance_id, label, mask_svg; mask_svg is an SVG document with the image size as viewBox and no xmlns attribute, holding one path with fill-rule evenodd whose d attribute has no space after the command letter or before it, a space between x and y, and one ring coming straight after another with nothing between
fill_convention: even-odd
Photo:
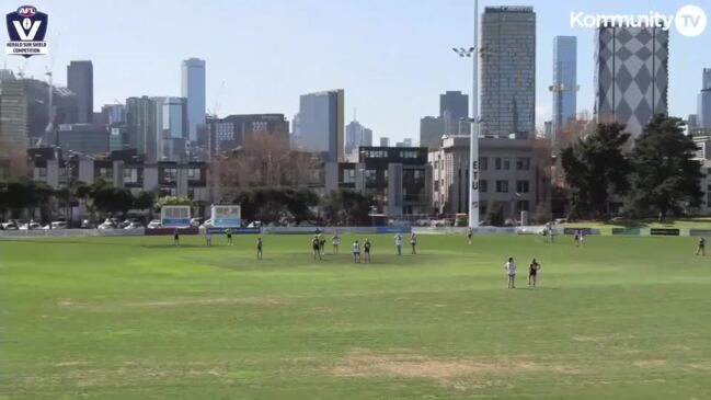
<instances>
[{"instance_id":1,"label":"AFL V shield logo reading Herald Sun Shield Competition","mask_svg":"<svg viewBox=\"0 0 711 400\"><path fill-rule=\"evenodd\" d=\"M13 56L32 57L47 54L47 14L33 5L22 5L5 16L10 41L5 52Z\"/></svg>"}]
</instances>

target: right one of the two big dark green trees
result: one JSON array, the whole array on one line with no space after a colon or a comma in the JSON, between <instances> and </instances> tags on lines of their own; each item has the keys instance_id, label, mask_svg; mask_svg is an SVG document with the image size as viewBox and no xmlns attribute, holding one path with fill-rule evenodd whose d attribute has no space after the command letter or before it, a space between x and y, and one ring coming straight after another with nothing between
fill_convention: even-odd
<instances>
[{"instance_id":1,"label":"right one of the two big dark green trees","mask_svg":"<svg viewBox=\"0 0 711 400\"><path fill-rule=\"evenodd\" d=\"M630 201L638 213L665 218L700 204L701 164L693 160L697 146L684 126L681 118L655 115L637 139Z\"/></svg>"}]
</instances>

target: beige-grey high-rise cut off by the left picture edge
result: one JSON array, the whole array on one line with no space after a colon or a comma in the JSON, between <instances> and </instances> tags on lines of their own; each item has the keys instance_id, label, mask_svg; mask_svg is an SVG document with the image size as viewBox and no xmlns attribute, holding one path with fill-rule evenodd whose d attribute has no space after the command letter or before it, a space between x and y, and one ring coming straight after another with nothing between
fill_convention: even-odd
<instances>
[{"instance_id":1,"label":"beige-grey high-rise cut off by the left picture edge","mask_svg":"<svg viewBox=\"0 0 711 400\"><path fill-rule=\"evenodd\" d=\"M24 172L27 153L27 101L22 80L0 80L0 179Z\"/></svg>"}]
</instances>

